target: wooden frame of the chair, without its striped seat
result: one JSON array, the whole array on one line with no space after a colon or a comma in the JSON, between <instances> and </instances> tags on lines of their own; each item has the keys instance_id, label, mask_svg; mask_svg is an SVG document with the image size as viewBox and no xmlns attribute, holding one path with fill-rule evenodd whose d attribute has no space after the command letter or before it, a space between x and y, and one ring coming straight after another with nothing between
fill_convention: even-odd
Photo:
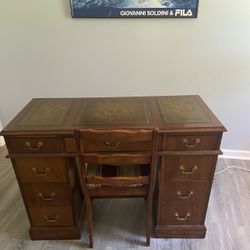
<instances>
[{"instance_id":1,"label":"wooden frame of the chair, without its striped seat","mask_svg":"<svg viewBox=\"0 0 250 250\"><path fill-rule=\"evenodd\" d=\"M91 200L96 196L106 198L124 197L125 195L126 197L134 198L135 186L136 190L140 191L137 193L137 196L139 196L139 194L142 194L139 197L143 197L147 200L146 245L149 246L152 223L151 215L153 191L155 186L157 164L158 131L142 129L78 129L75 131L75 136L78 145L78 174L80 176L80 183L82 192L84 194L87 212L86 216L88 222L89 246L93 247L93 211ZM98 153L98 147L97 152L93 152L92 154L88 153L89 149L86 145L89 143L89 141L96 142L97 145L105 145L105 147L102 148L102 151L105 151L105 154ZM138 147L138 143L140 142L146 142L147 144L151 145L151 149L143 154L141 150L145 150L145 148L143 146L143 149L140 149ZM119 146L123 144L128 145L127 143L131 143L131 145L137 145L137 150L140 153L126 152L121 154L119 152ZM129 150L131 149L127 148L127 151ZM133 148L133 151L134 150L135 149ZM114 151L118 152L115 153ZM97 164L101 166L105 164L108 165L110 169L116 169L116 166L128 168L128 165L142 165L142 167L146 168L144 165L147 164L149 166L149 173L145 176L100 177L97 175L88 175L88 171L86 168L91 167L90 164Z\"/></svg>"}]
</instances>

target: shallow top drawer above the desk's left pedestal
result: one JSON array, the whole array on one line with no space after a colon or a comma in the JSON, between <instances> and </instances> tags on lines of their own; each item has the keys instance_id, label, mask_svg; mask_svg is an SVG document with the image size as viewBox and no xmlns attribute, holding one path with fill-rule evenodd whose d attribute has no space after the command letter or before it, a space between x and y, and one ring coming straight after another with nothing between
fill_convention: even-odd
<instances>
[{"instance_id":1,"label":"shallow top drawer above the desk's left pedestal","mask_svg":"<svg viewBox=\"0 0 250 250\"><path fill-rule=\"evenodd\" d=\"M8 140L10 153L59 153L64 146L60 138L11 137Z\"/></svg>"}]
</instances>

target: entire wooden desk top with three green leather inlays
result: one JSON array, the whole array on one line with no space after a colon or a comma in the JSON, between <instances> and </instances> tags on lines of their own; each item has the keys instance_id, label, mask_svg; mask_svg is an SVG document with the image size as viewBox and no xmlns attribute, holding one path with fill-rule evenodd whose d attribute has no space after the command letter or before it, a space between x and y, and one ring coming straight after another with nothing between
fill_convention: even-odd
<instances>
[{"instance_id":1,"label":"entire wooden desk top with three green leather inlays","mask_svg":"<svg viewBox=\"0 0 250 250\"><path fill-rule=\"evenodd\" d=\"M158 128L168 132L225 131L197 95L36 98L1 131L72 133L75 128Z\"/></svg>"}]
</instances>

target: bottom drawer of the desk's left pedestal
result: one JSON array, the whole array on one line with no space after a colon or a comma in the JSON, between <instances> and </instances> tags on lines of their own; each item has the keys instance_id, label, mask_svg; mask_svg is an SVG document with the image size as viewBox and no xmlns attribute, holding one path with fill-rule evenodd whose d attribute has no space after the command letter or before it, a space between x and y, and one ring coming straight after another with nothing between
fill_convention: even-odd
<instances>
[{"instance_id":1,"label":"bottom drawer of the desk's left pedestal","mask_svg":"<svg viewBox=\"0 0 250 250\"><path fill-rule=\"evenodd\" d=\"M71 207L31 207L32 226L73 226Z\"/></svg>"}]
</instances>

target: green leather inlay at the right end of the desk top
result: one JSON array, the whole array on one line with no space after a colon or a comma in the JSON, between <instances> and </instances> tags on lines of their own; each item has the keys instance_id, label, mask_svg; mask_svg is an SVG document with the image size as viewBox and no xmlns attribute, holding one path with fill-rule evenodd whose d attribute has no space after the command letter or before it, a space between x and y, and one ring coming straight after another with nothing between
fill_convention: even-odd
<instances>
[{"instance_id":1,"label":"green leather inlay at the right end of the desk top","mask_svg":"<svg viewBox=\"0 0 250 250\"><path fill-rule=\"evenodd\" d=\"M157 104L160 109L163 122L209 122L207 115L193 96L186 97L159 97Z\"/></svg>"}]
</instances>

